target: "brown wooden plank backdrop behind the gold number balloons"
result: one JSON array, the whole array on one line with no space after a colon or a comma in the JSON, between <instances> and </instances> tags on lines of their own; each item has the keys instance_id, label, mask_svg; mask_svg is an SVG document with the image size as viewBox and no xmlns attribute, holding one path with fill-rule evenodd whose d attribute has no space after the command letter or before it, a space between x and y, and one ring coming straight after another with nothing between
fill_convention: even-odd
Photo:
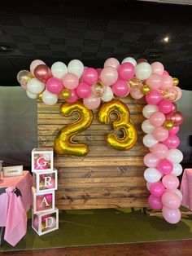
<instances>
[{"instance_id":1,"label":"brown wooden plank backdrop behind the gold number balloons","mask_svg":"<svg viewBox=\"0 0 192 256\"><path fill-rule=\"evenodd\" d=\"M59 209L96 209L118 207L145 207L149 192L143 172L143 156L147 148L142 144L142 108L146 102L131 97L120 99L128 105L131 121L137 129L137 143L129 151L117 151L107 146L106 136L111 125L98 122L98 110L88 130L77 135L76 141L89 146L86 157L55 156L54 166L59 170L59 189L56 205ZM54 146L58 130L76 120L59 113L62 102L55 106L37 103L38 144ZM114 114L113 118L116 115Z\"/></svg>"}]
</instances>

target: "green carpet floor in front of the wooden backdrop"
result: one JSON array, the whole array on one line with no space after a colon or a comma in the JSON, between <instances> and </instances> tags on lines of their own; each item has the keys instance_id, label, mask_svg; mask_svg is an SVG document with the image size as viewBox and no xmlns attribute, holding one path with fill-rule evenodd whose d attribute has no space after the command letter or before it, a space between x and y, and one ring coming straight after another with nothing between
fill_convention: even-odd
<instances>
[{"instance_id":1,"label":"green carpet floor in front of the wooden backdrop","mask_svg":"<svg viewBox=\"0 0 192 256\"><path fill-rule=\"evenodd\" d=\"M59 230L38 236L28 219L28 232L15 246L4 242L0 250L40 249L142 241L192 239L192 216L175 225L140 210L67 210L59 212Z\"/></svg>"}]
</instances>

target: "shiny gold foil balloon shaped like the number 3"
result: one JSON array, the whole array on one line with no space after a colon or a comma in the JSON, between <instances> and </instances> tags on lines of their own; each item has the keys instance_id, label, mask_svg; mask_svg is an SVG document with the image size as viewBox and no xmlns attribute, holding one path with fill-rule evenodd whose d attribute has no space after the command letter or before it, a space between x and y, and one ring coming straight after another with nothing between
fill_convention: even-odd
<instances>
[{"instance_id":1,"label":"shiny gold foil balloon shaped like the number 3","mask_svg":"<svg viewBox=\"0 0 192 256\"><path fill-rule=\"evenodd\" d=\"M102 124L108 124L111 121L111 113L116 113L117 120L113 121L114 130L122 130L123 137L118 137L115 133L107 135L107 143L111 148L117 150L129 150L137 142L137 131L130 121L129 108L118 99L112 99L102 105L98 113L98 120Z\"/></svg>"}]
</instances>

